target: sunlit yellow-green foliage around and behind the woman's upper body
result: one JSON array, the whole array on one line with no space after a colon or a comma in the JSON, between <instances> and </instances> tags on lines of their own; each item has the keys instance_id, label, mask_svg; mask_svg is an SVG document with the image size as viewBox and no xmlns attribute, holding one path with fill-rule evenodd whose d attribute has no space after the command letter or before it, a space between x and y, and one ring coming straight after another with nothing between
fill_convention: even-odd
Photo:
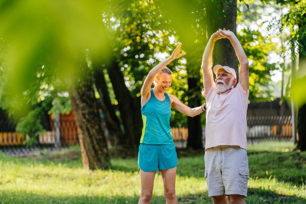
<instances>
[{"instance_id":1,"label":"sunlit yellow-green foliage around and behind the woman's upper body","mask_svg":"<svg viewBox=\"0 0 306 204\"><path fill-rule=\"evenodd\" d=\"M161 23L169 21L159 8L145 0L124 2L112 15L105 16L103 21L115 38L114 60L121 67L125 84L133 98L140 97L140 89L147 74L170 56L178 44L177 36L170 26ZM185 96L188 89L185 64L186 60L180 59L168 65L173 72L172 86L168 93L188 104ZM109 81L107 75L106 81ZM110 81L108 87L114 100ZM113 102L117 104L115 100ZM175 127L187 126L187 117L173 111L170 124Z\"/></svg>"}]
</instances>

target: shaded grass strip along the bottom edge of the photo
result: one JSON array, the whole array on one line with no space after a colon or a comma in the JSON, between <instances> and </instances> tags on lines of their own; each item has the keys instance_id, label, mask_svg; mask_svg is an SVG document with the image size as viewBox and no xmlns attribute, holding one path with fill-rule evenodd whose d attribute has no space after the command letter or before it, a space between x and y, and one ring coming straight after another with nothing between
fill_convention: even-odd
<instances>
[{"instance_id":1,"label":"shaded grass strip along the bottom edge of the photo","mask_svg":"<svg viewBox=\"0 0 306 204\"><path fill-rule=\"evenodd\" d=\"M178 203L184 204L198 204L198 203L212 203L211 197L208 197L208 193L198 193L198 194L186 194L178 195ZM0 203L137 203L139 200L138 195L134 196L114 196L114 197L104 197L96 195L77 195L77 196L50 196L50 195L41 195L28 192L0 192ZM273 191L249 188L248 197L245 198L245 202L248 204L258 204L258 203L269 203L269 204L279 204L279 203L296 203L302 204L306 203L305 198L298 198L297 196L286 196L274 193ZM153 196L152 204L166 203L164 196Z\"/></svg>"}]
</instances>

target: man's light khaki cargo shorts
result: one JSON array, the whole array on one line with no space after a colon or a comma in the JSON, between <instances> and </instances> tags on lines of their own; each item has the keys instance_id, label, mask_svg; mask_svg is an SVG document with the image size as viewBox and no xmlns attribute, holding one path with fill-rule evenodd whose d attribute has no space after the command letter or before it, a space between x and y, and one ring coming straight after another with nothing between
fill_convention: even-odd
<instances>
[{"instance_id":1,"label":"man's light khaki cargo shorts","mask_svg":"<svg viewBox=\"0 0 306 204\"><path fill-rule=\"evenodd\" d=\"M238 194L247 197L248 156L239 146L219 146L205 151L208 196Z\"/></svg>"}]
</instances>

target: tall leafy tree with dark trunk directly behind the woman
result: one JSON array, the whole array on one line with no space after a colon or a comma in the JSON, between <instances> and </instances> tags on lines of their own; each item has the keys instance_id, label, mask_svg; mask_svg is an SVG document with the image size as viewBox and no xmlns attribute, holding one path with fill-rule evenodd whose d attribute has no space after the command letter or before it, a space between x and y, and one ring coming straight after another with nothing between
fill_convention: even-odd
<instances>
[{"instance_id":1,"label":"tall leafy tree with dark trunk directly behind the woman","mask_svg":"<svg viewBox=\"0 0 306 204\"><path fill-rule=\"evenodd\" d=\"M157 63L156 52L171 50L169 39L155 5L126 1L106 16L115 49L112 63L105 65L118 102L125 143L138 147L142 132L140 89L149 70Z\"/></svg>"}]
</instances>

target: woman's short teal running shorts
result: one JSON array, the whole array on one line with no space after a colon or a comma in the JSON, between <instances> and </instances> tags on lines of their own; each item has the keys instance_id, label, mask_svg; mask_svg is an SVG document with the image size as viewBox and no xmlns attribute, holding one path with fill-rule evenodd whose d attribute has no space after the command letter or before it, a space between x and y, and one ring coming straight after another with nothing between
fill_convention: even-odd
<instances>
[{"instance_id":1,"label":"woman's short teal running shorts","mask_svg":"<svg viewBox=\"0 0 306 204\"><path fill-rule=\"evenodd\" d=\"M172 169L177 166L174 143L165 145L143 144L139 146L138 169L145 172Z\"/></svg>"}]
</instances>

